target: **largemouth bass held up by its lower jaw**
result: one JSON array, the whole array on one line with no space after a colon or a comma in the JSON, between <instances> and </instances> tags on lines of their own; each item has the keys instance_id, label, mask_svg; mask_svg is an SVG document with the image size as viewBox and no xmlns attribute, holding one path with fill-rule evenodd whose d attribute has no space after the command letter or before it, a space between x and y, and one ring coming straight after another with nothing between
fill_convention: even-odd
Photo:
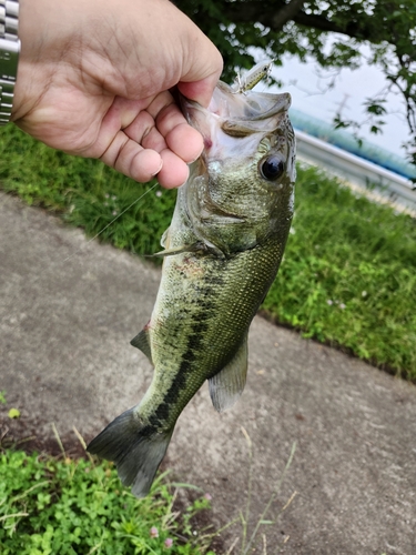
<instances>
[{"instance_id":1,"label":"largemouth bass held up by its lower jaw","mask_svg":"<svg viewBox=\"0 0 416 555\"><path fill-rule=\"evenodd\" d=\"M291 228L295 137L288 93L235 91L211 104L181 99L204 140L162 236L162 278L149 323L131 341L154 366L140 403L88 446L145 496L181 412L205 381L216 411L240 398L250 324L273 283Z\"/></svg>"}]
</instances>

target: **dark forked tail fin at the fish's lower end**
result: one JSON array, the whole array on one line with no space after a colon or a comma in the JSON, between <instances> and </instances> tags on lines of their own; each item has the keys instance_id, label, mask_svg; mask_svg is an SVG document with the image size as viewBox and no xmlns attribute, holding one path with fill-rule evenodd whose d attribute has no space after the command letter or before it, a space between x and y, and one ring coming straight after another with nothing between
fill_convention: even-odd
<instances>
[{"instance_id":1,"label":"dark forked tail fin at the fish's lower end","mask_svg":"<svg viewBox=\"0 0 416 555\"><path fill-rule=\"evenodd\" d=\"M90 453L113 461L119 477L138 497L148 495L166 453L172 431L160 433L144 424L136 408L118 416L87 447Z\"/></svg>"}]
</instances>

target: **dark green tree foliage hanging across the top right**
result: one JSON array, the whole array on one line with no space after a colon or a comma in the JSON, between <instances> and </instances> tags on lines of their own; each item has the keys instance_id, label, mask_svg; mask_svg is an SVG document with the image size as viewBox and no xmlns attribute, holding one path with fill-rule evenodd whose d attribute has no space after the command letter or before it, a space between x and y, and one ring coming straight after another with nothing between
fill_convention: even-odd
<instances>
[{"instance_id":1,"label":"dark green tree foliage hanging across the top right","mask_svg":"<svg viewBox=\"0 0 416 555\"><path fill-rule=\"evenodd\" d=\"M313 57L323 68L357 68L367 61L386 75L386 88L366 99L373 132L383 127L390 91L404 100L416 163L416 2L415 0L176 0L177 7L207 34L224 57L224 79L234 68L250 68L252 47L280 63L283 54ZM339 125L343 122L338 118Z\"/></svg>"}]
</instances>

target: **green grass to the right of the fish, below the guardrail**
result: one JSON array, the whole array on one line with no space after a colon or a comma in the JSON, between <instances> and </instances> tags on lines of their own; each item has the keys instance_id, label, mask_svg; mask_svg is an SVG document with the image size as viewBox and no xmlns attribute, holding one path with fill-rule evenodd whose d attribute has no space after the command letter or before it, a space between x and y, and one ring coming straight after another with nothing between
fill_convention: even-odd
<instances>
[{"instance_id":1,"label":"green grass to the right of the fish, below the guardrail","mask_svg":"<svg viewBox=\"0 0 416 555\"><path fill-rule=\"evenodd\" d=\"M264 307L307 337L416 380L416 225L301 170L292 234Z\"/></svg>"}]
</instances>

